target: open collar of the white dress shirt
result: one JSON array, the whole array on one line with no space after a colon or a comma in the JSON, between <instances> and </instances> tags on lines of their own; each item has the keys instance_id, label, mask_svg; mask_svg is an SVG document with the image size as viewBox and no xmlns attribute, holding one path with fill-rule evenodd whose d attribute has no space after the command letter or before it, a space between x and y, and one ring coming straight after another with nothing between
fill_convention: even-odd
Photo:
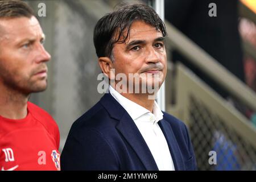
<instances>
[{"instance_id":1,"label":"open collar of the white dress shirt","mask_svg":"<svg viewBox=\"0 0 256 182\"><path fill-rule=\"evenodd\" d=\"M139 117L142 117L142 115L144 114L151 113L149 110L142 107L141 105L138 105L137 103L127 99L126 97L123 97L112 86L109 86L109 92L115 98L115 100L117 100L117 102L127 111L133 121L135 119L138 119ZM156 101L154 102L152 114L154 114L156 122L163 119L163 113Z\"/></svg>"}]
</instances>

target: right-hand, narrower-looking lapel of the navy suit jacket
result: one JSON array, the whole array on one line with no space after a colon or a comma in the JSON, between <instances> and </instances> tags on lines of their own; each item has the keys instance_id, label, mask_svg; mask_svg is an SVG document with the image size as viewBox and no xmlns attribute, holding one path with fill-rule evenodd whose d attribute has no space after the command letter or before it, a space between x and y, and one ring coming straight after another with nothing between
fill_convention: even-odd
<instances>
[{"instance_id":1,"label":"right-hand, narrower-looking lapel of the navy suit jacket","mask_svg":"<svg viewBox=\"0 0 256 182\"><path fill-rule=\"evenodd\" d=\"M168 146L170 148L172 160L174 161L175 170L185 170L181 151L179 145L177 144L174 131L172 131L170 124L164 119L159 121L158 124L163 131L164 137L166 137Z\"/></svg>"}]
</instances>

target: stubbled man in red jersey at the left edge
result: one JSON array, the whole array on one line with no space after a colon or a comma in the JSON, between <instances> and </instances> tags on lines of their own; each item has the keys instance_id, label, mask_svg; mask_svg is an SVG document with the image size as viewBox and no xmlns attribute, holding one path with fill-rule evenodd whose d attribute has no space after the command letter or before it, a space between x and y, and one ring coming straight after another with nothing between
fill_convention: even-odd
<instances>
[{"instance_id":1,"label":"stubbled man in red jersey at the left edge","mask_svg":"<svg viewBox=\"0 0 256 182\"><path fill-rule=\"evenodd\" d=\"M44 34L22 1L0 0L0 169L60 170L53 118L28 102L47 88Z\"/></svg>"}]
</instances>

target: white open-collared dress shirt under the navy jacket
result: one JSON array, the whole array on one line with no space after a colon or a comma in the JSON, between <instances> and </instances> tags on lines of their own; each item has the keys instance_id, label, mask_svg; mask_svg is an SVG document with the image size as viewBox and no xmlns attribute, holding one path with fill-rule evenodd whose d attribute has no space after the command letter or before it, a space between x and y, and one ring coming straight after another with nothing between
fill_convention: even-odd
<instances>
[{"instance_id":1,"label":"white open-collared dress shirt under the navy jacket","mask_svg":"<svg viewBox=\"0 0 256 182\"><path fill-rule=\"evenodd\" d=\"M109 86L109 92L133 119L147 143L158 169L160 171L174 171L174 162L166 138L158 125L158 121L163 119L163 113L156 101L154 102L153 113L151 113L146 108L123 97L112 86Z\"/></svg>"}]
</instances>

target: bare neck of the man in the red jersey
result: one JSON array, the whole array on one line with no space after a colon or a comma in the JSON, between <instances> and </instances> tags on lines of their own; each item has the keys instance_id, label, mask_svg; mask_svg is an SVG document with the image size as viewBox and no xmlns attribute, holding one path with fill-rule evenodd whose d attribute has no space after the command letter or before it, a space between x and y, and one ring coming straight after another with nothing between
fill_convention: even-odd
<instances>
[{"instance_id":1,"label":"bare neck of the man in the red jersey","mask_svg":"<svg viewBox=\"0 0 256 182\"><path fill-rule=\"evenodd\" d=\"M27 116L28 96L0 85L0 115L9 119L23 119Z\"/></svg>"}]
</instances>

